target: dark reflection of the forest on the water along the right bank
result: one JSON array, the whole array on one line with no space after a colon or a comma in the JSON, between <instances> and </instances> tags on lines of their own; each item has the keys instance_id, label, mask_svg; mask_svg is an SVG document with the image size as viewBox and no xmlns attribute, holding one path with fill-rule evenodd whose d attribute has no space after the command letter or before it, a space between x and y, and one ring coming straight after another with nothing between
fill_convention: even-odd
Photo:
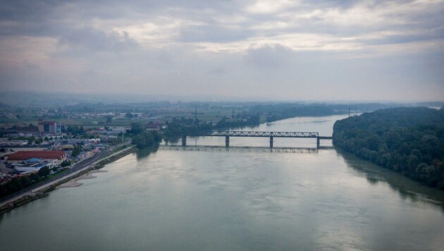
<instances>
[{"instance_id":1,"label":"dark reflection of the forest on the water along the right bank","mask_svg":"<svg viewBox=\"0 0 444 251\"><path fill-rule=\"evenodd\" d=\"M439 208L444 214L444 192L436 188L411 180L400 173L383 169L381 166L364 161L354 155L337 149L338 155L343 157L347 166L366 177L370 185L388 184L391 190L397 192L402 200L422 202Z\"/></svg>"}]
</instances>

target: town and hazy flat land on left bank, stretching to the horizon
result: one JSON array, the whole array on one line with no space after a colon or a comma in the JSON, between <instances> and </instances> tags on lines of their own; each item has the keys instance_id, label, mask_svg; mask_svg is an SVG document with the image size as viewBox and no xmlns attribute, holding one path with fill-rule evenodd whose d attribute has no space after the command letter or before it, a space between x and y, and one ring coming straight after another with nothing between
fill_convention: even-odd
<instances>
[{"instance_id":1,"label":"town and hazy flat land on left bank, stretching to the horizon","mask_svg":"<svg viewBox=\"0 0 444 251\"><path fill-rule=\"evenodd\" d=\"M211 102L85 103L57 108L1 104L0 185L9 184L2 196L58 176L111 146L129 144L135 125L174 140L168 137L168 125L172 130L182 124L248 125L254 117L248 112L250 106Z\"/></svg>"}]
</instances>

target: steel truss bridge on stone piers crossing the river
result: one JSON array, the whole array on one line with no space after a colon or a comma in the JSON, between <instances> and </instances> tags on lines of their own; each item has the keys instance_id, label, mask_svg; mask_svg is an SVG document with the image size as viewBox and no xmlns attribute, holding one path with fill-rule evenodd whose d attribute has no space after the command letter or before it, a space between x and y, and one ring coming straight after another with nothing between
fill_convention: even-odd
<instances>
[{"instance_id":1,"label":"steel truss bridge on stone piers crossing the river","mask_svg":"<svg viewBox=\"0 0 444 251\"><path fill-rule=\"evenodd\" d=\"M206 133L197 133L189 136L225 137L225 146L230 146L230 137L269 137L270 148L273 148L273 137L304 137L316 138L316 148L319 148L321 140L333 140L333 137L319 136L319 133L310 132L261 132L247 130L214 130ZM187 145L187 135L182 136L182 146Z\"/></svg>"}]
</instances>

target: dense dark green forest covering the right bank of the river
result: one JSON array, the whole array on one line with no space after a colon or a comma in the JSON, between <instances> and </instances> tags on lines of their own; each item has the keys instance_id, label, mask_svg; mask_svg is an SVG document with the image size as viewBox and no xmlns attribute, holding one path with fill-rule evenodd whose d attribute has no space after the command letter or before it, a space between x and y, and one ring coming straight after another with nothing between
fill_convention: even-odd
<instances>
[{"instance_id":1,"label":"dense dark green forest covering the right bank of the river","mask_svg":"<svg viewBox=\"0 0 444 251\"><path fill-rule=\"evenodd\" d=\"M336 121L333 144L444 189L444 109L381 109Z\"/></svg>"}]
</instances>

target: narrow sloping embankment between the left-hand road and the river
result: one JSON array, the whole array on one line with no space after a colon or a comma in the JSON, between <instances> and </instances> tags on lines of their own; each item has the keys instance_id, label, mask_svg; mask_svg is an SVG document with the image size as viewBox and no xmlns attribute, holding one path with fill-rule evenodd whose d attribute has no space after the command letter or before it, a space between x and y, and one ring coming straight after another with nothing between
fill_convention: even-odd
<instances>
[{"instance_id":1,"label":"narrow sloping embankment between the left-hand road and the river","mask_svg":"<svg viewBox=\"0 0 444 251\"><path fill-rule=\"evenodd\" d=\"M90 173L101 172L101 171L99 171L99 169L104 167L104 165L109 164L113 161L116 161L117 159L121 159L122 157L125 157L126 155L128 155L132 152L135 152L135 150L136 150L136 148L134 146L127 147L125 149L121 149L120 151L114 152L113 154L109 155L108 157L103 157L101 159L98 159L97 161L93 162L92 164L85 166L85 168L80 169L79 171L76 171L75 173L72 173L69 176L61 177L60 179L54 180L51 183L44 184L44 185L40 186L39 188L35 188L35 189L31 190L30 192L25 193L24 195L20 195L20 196L15 197L11 200L8 200L7 202L4 202L4 204L0 205L0 214L4 214L6 212L9 212L14 208L17 208L17 207L22 206L23 204L26 204L27 202L32 202L33 200L37 200L41 197L47 196L48 192L51 192L52 190L58 188L59 186L63 185L64 183L67 183L70 180L77 181L77 180L82 179L80 177L85 178Z\"/></svg>"}]
</instances>

